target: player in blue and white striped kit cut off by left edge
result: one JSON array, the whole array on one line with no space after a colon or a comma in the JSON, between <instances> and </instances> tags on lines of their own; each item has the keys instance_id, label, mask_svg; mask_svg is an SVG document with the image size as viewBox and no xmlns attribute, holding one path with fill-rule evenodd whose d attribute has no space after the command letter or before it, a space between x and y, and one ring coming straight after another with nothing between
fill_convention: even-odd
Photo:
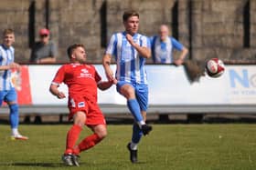
<instances>
[{"instance_id":1,"label":"player in blue and white striped kit cut off by left edge","mask_svg":"<svg viewBox=\"0 0 256 170\"><path fill-rule=\"evenodd\" d=\"M0 106L6 102L10 109L11 138L27 140L28 137L18 132L19 113L15 86L12 83L12 70L19 71L20 65L15 63L15 33L12 29L5 29L3 44L0 45Z\"/></svg>"}]
</instances>

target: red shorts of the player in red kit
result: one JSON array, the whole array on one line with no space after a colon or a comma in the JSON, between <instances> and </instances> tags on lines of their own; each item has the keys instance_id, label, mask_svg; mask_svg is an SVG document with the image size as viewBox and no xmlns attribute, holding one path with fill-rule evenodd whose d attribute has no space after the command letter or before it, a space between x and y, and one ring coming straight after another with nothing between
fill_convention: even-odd
<instances>
[{"instance_id":1,"label":"red shorts of the player in red kit","mask_svg":"<svg viewBox=\"0 0 256 170\"><path fill-rule=\"evenodd\" d=\"M69 97L69 120L73 118L78 111L83 111L86 114L85 125L106 125L104 115L101 112L99 105L85 97L76 96Z\"/></svg>"}]
</instances>

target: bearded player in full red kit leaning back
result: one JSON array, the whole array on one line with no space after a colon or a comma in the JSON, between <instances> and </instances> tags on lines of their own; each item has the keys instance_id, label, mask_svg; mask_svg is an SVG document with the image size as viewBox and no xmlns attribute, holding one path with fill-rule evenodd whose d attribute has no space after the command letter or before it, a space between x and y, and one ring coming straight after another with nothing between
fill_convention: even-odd
<instances>
[{"instance_id":1,"label":"bearded player in full red kit leaning back","mask_svg":"<svg viewBox=\"0 0 256 170\"><path fill-rule=\"evenodd\" d=\"M62 161L66 165L79 166L80 152L98 144L107 135L106 122L97 104L97 87L106 90L114 82L101 81L101 76L95 67L85 64L87 55L84 45L70 45L67 52L70 63L59 68L49 91L61 99L66 95L59 91L59 85L64 83L69 87L69 120L73 120L73 125L67 134L66 150L62 155ZM76 145L83 125L90 127L93 134Z\"/></svg>"}]
</instances>

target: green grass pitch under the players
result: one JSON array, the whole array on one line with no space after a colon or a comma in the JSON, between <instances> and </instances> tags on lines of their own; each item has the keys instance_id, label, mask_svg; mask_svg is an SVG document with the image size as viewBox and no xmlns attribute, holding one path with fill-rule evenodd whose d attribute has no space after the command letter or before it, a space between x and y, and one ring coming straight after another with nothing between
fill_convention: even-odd
<instances>
[{"instance_id":1,"label":"green grass pitch under the players","mask_svg":"<svg viewBox=\"0 0 256 170\"><path fill-rule=\"evenodd\" d=\"M80 167L62 165L70 125L20 125L28 141L12 141L0 125L0 169L93 170L244 170L256 169L256 125L153 125L139 145L139 163L131 164L126 145L131 125L108 125L101 144L80 154ZM88 128L81 133L88 135Z\"/></svg>"}]
</instances>

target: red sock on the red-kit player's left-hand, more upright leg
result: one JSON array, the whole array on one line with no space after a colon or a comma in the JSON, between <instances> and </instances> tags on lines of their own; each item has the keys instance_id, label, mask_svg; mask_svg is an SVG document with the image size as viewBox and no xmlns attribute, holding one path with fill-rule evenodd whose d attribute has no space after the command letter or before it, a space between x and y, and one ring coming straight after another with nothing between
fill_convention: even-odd
<instances>
[{"instance_id":1,"label":"red sock on the red-kit player's left-hand, more upright leg","mask_svg":"<svg viewBox=\"0 0 256 170\"><path fill-rule=\"evenodd\" d=\"M65 154L72 154L73 148L76 145L80 136L81 127L79 125L72 125L67 134L66 151Z\"/></svg>"}]
</instances>

